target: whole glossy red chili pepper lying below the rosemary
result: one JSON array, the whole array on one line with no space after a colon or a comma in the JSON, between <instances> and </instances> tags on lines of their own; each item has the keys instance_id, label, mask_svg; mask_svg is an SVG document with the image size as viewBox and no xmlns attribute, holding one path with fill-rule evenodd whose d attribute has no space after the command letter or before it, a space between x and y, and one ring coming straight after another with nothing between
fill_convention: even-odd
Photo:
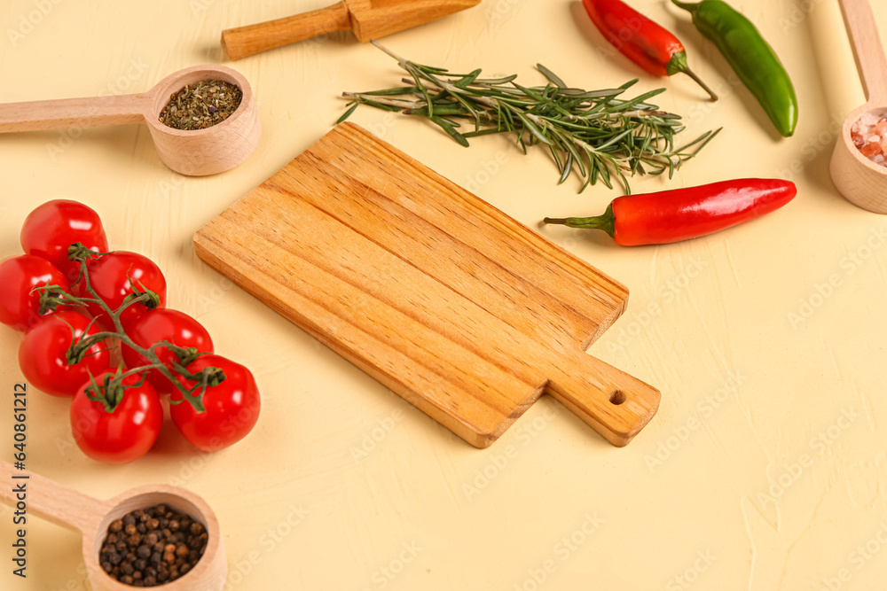
<instances>
[{"instance_id":1,"label":"whole glossy red chili pepper lying below the rosemary","mask_svg":"<svg viewBox=\"0 0 887 591\"><path fill-rule=\"evenodd\" d=\"M663 245L749 222L789 203L796 193L790 181L735 179L618 197L601 215L546 217L544 222L602 229L623 246Z\"/></svg>"}]
</instances>

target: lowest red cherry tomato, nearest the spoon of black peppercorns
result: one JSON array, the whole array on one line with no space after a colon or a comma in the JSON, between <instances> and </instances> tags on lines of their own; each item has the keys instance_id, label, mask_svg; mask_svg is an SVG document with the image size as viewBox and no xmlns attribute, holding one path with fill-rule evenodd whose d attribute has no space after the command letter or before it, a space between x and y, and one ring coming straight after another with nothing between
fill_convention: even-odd
<instances>
[{"instance_id":1,"label":"lowest red cherry tomato, nearest the spoon of black peppercorns","mask_svg":"<svg viewBox=\"0 0 887 591\"><path fill-rule=\"evenodd\" d=\"M102 384L106 371L96 376ZM163 424L163 407L153 385L147 381L135 385L139 376L123 379L129 385L123 391L122 400L113 412L105 404L90 400L86 388L81 386L71 400L71 431L82 452L93 460L106 463L128 463L145 455L160 435Z\"/></svg>"}]
</instances>

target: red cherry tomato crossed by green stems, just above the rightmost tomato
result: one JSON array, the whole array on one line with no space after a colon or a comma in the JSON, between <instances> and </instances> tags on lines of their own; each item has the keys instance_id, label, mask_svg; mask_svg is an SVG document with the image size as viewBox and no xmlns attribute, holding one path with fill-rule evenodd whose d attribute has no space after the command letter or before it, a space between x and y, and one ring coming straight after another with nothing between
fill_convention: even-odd
<instances>
[{"instance_id":1,"label":"red cherry tomato crossed by green stems, just above the rightmost tomato","mask_svg":"<svg viewBox=\"0 0 887 591\"><path fill-rule=\"evenodd\" d=\"M193 347L199 353L213 352L213 339L209 338L208 331L191 316L178 310L171 310L169 308L149 310L131 322L124 324L123 330L137 346L144 347L145 349L150 348L154 343L166 340L173 345L181 346L185 349ZM156 347L154 353L161 359L161 362L165 362L168 365L172 362L178 362L176 354L169 351L165 346ZM123 362L130 369L149 363L145 357L137 354L129 346L123 346ZM173 375L177 375L175 371ZM147 379L157 389L158 393L170 393L176 388L175 385L169 382L166 376L156 369L152 369L148 373Z\"/></svg>"}]
</instances>

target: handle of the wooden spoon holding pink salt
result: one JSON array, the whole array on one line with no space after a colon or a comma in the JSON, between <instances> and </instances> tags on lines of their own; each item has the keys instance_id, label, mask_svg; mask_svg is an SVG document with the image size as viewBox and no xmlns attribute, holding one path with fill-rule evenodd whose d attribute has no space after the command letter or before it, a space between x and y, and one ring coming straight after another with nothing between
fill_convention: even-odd
<instances>
[{"instance_id":1,"label":"handle of the wooden spoon holding pink salt","mask_svg":"<svg viewBox=\"0 0 887 591\"><path fill-rule=\"evenodd\" d=\"M875 14L868 0L839 0L844 26L870 103L887 103L887 58L884 58Z\"/></svg>"}]
</instances>

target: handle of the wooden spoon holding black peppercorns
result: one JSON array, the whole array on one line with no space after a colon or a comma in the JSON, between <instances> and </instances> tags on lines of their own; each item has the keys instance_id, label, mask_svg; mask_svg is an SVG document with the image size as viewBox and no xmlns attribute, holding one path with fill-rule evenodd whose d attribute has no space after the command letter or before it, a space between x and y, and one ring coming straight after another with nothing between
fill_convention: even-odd
<instances>
[{"instance_id":1,"label":"handle of the wooden spoon holding black peppercorns","mask_svg":"<svg viewBox=\"0 0 887 591\"><path fill-rule=\"evenodd\" d=\"M104 503L6 462L0 462L0 501L12 507L13 519L35 515L83 534L93 534L106 513Z\"/></svg>"}]
</instances>

